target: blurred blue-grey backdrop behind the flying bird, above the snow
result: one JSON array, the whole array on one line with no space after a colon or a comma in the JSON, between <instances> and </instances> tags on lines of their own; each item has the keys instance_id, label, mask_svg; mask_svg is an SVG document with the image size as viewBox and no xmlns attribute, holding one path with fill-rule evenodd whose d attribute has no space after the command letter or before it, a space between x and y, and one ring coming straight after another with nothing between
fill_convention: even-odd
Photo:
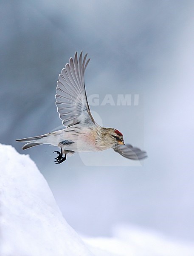
<instances>
[{"instance_id":1,"label":"blurred blue-grey backdrop behind the flying bird, above the snow","mask_svg":"<svg viewBox=\"0 0 194 256\"><path fill-rule=\"evenodd\" d=\"M30 155L79 233L111 236L132 224L193 241L193 13L192 0L0 2L0 143ZM146 150L141 163L108 150L55 165L57 148L15 142L62 128L56 81L81 50L91 58L87 95L99 95L96 121ZM107 94L115 105L101 104ZM131 105L117 105L118 94Z\"/></svg>"}]
</instances>

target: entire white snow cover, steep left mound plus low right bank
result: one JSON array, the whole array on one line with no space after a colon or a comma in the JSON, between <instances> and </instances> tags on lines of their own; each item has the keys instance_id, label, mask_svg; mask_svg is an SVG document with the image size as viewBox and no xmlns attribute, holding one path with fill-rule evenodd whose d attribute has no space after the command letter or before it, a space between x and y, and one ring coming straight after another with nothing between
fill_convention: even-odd
<instances>
[{"instance_id":1,"label":"entire white snow cover, steep left mound plus low right bank","mask_svg":"<svg viewBox=\"0 0 194 256\"><path fill-rule=\"evenodd\" d=\"M0 256L194 256L194 244L142 228L112 235L81 238L30 157L0 144Z\"/></svg>"}]
</instances>

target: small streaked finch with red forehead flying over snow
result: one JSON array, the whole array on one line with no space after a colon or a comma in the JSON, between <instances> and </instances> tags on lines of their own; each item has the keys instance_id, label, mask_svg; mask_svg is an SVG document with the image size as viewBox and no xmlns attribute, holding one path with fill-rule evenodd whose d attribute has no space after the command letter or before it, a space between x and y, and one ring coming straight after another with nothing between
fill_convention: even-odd
<instances>
[{"instance_id":1,"label":"small streaked finch with red forehead flying over snow","mask_svg":"<svg viewBox=\"0 0 194 256\"><path fill-rule=\"evenodd\" d=\"M22 147L23 150L41 144L59 147L60 151L54 151L58 154L55 157L57 164L64 162L67 155L76 152L103 151L109 148L131 160L146 158L146 151L124 143L120 131L102 127L93 119L84 81L84 73L89 61L87 54L83 56L81 52L78 58L76 52L74 58L69 59L59 74L55 98L57 112L65 128L17 141L26 143Z\"/></svg>"}]
</instances>

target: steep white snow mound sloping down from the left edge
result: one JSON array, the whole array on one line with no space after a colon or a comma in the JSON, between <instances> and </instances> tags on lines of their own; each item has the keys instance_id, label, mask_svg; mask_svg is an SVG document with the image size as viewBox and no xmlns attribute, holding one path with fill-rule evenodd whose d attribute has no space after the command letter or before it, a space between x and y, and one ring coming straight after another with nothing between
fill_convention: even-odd
<instances>
[{"instance_id":1,"label":"steep white snow mound sloping down from the left edge","mask_svg":"<svg viewBox=\"0 0 194 256\"><path fill-rule=\"evenodd\" d=\"M92 256L28 155L0 144L0 255Z\"/></svg>"}]
</instances>

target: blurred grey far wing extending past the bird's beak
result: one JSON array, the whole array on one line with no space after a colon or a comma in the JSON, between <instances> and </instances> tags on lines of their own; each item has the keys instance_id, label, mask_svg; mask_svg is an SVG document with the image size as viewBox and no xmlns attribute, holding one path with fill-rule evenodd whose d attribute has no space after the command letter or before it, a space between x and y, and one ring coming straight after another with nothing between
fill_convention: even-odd
<instances>
[{"instance_id":1,"label":"blurred grey far wing extending past the bird's beak","mask_svg":"<svg viewBox=\"0 0 194 256\"><path fill-rule=\"evenodd\" d=\"M146 151L141 151L140 148L134 148L132 145L118 145L113 148L115 152L121 154L121 156L132 159L141 160L147 157Z\"/></svg>"}]
</instances>

